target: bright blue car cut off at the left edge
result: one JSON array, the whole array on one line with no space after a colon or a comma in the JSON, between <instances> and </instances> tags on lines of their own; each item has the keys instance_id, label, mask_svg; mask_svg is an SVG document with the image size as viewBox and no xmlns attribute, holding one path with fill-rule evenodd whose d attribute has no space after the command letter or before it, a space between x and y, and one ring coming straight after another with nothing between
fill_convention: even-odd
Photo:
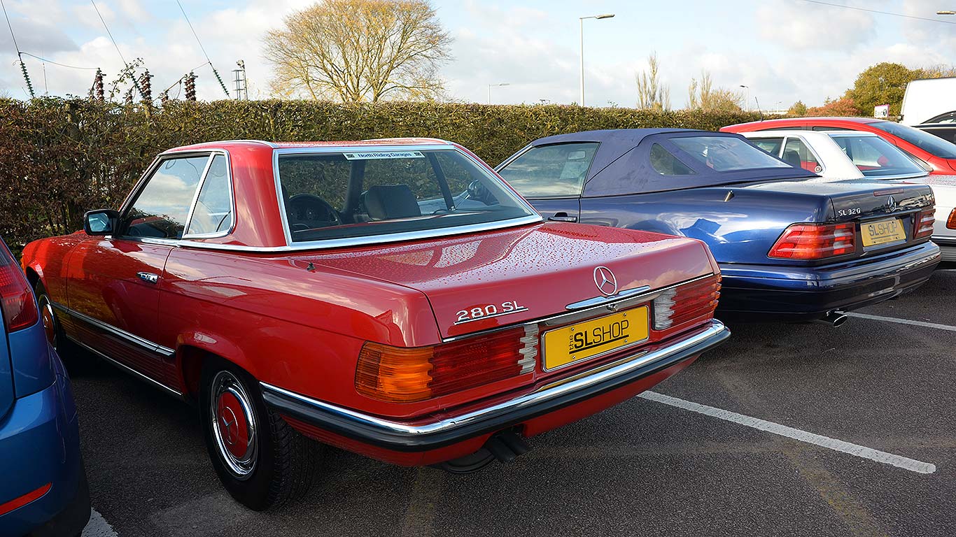
<instances>
[{"instance_id":1,"label":"bright blue car cut off at the left edge","mask_svg":"<svg viewBox=\"0 0 956 537\"><path fill-rule=\"evenodd\" d=\"M55 325L0 241L0 536L79 535L90 494Z\"/></svg>"}]
</instances>

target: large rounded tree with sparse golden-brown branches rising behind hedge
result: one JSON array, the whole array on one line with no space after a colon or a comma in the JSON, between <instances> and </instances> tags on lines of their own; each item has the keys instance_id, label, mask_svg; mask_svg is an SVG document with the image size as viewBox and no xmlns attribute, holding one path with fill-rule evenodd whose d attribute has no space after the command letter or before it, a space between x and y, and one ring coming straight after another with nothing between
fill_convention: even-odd
<instances>
[{"instance_id":1,"label":"large rounded tree with sparse golden-brown branches rising behind hedge","mask_svg":"<svg viewBox=\"0 0 956 537\"><path fill-rule=\"evenodd\" d=\"M342 102L428 99L451 37L427 0L322 0L264 38L272 90Z\"/></svg>"}]
</instances>

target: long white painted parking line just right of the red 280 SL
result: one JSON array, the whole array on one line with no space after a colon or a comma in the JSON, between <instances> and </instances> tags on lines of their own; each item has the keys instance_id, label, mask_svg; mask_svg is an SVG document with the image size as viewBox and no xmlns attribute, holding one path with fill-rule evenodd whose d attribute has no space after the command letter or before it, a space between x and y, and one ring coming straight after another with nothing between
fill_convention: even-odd
<instances>
[{"instance_id":1,"label":"long white painted parking line just right of the red 280 SL","mask_svg":"<svg viewBox=\"0 0 956 537\"><path fill-rule=\"evenodd\" d=\"M886 453L885 451L879 451L855 443L824 437L815 433L808 433L807 431L801 431L800 429L794 429L793 427L788 427L786 425L781 425L779 423L774 423L765 419L751 418L750 416L744 416L743 414L737 414L736 412L730 412L728 410L721 410L719 408L691 402L678 397L665 396L663 394L658 394L657 392L644 392L639 397L663 404L668 404L670 406L683 408L684 410L689 410L691 412L697 412L712 418L726 419L727 421L753 427L754 429L759 429L761 431L767 431L768 433L773 433L774 435L780 435L789 439L812 443L820 447L826 447L828 449L841 451L843 453L861 457L863 459L869 459L870 461L891 464L893 466L897 466L911 472L916 472L918 474L931 474L936 471L936 465L930 464L929 462L920 462L913 459L907 459L906 457L893 455L892 453Z\"/></svg>"}]
</instances>

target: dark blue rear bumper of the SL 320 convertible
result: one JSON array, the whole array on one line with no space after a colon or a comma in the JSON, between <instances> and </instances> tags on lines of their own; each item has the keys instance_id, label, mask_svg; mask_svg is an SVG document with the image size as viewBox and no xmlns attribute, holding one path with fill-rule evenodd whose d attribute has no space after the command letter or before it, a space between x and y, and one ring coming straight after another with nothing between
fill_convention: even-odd
<instances>
[{"instance_id":1,"label":"dark blue rear bumper of the SL 320 convertible","mask_svg":"<svg viewBox=\"0 0 956 537\"><path fill-rule=\"evenodd\" d=\"M921 286L941 260L933 243L819 267L722 264L717 317L739 321L810 321L850 311Z\"/></svg>"}]
</instances>

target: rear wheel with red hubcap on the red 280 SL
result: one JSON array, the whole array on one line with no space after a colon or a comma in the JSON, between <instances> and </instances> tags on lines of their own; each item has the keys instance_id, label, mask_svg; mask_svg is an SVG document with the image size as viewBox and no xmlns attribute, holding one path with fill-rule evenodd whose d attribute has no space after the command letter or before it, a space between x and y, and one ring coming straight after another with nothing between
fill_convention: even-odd
<instances>
[{"instance_id":1,"label":"rear wheel with red hubcap on the red 280 SL","mask_svg":"<svg viewBox=\"0 0 956 537\"><path fill-rule=\"evenodd\" d=\"M257 511L308 491L320 444L298 434L262 399L258 382L223 360L206 360L200 409L206 449L219 480Z\"/></svg>"}]
</instances>

